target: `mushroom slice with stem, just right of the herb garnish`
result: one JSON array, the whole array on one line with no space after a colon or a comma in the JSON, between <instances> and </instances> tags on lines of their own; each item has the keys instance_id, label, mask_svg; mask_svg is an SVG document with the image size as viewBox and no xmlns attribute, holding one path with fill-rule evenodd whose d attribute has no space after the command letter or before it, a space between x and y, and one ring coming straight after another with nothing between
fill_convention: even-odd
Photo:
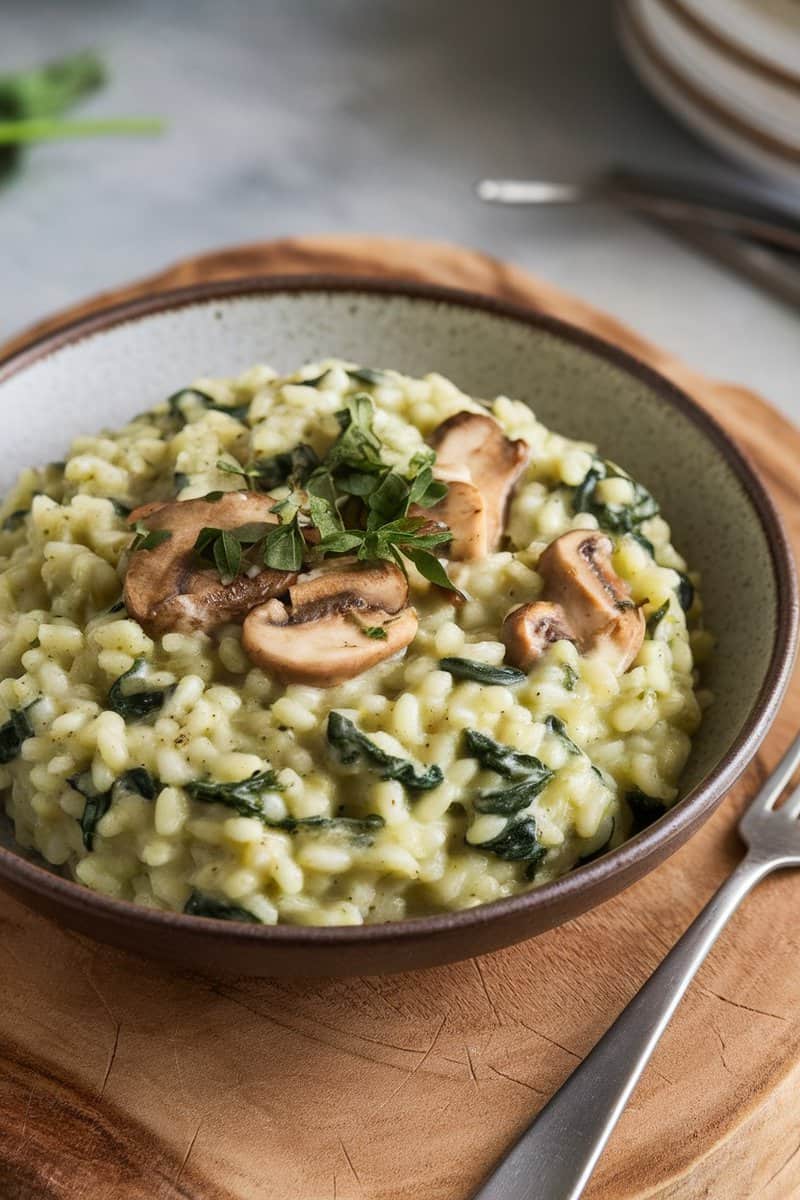
<instances>
[{"instance_id":1,"label":"mushroom slice with stem, just right of the herb garnish","mask_svg":"<svg viewBox=\"0 0 800 1200\"><path fill-rule=\"evenodd\" d=\"M431 436L437 451L434 474L441 478L465 467L486 505L487 550L497 550L505 527L506 510L515 484L530 455L527 442L507 438L493 416L483 413L456 413Z\"/></svg>"}]
</instances>

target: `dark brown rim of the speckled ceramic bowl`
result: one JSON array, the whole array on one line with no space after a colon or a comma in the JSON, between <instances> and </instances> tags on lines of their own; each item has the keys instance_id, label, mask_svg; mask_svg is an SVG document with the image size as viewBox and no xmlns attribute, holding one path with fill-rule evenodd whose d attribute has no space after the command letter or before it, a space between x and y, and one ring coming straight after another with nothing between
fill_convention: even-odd
<instances>
[{"instance_id":1,"label":"dark brown rim of the speckled ceramic bowl","mask_svg":"<svg viewBox=\"0 0 800 1200\"><path fill-rule=\"evenodd\" d=\"M0 847L0 880L26 893L44 894L54 905L72 911L91 911L109 922L139 925L157 934L187 937L224 937L229 944L252 949L270 944L287 949L303 947L354 947L410 943L419 937L435 937L485 926L503 918L531 918L564 907L572 914L570 901L585 894L594 907L633 880L652 870L673 853L702 821L711 815L728 790L744 772L768 730L786 692L798 648L798 583L794 559L783 522L747 455L697 401L654 367L627 350L590 334L581 326L552 317L540 310L498 300L480 293L439 284L357 275L254 275L235 280L194 283L151 295L109 305L89 316L67 319L42 335L34 334L23 347L0 356L0 385L34 364L64 348L120 325L192 306L297 293L353 293L439 302L451 307L485 312L516 322L528 329L551 334L573 347L587 350L648 385L662 402L678 409L708 438L726 460L744 487L762 526L776 581L776 632L769 667L745 721L722 758L691 791L652 826L628 839L616 850L566 875L529 892L488 901L471 908L410 917L374 925L260 925L187 916L180 912L148 908L133 901L119 900L92 892L52 870L38 866L12 850ZM0 402L2 395L0 391ZM614 880L620 877L619 887ZM610 888L604 884L610 883ZM572 906L577 910L577 906ZM575 912L577 914L577 911ZM558 918L551 924L558 924Z\"/></svg>"}]
</instances>

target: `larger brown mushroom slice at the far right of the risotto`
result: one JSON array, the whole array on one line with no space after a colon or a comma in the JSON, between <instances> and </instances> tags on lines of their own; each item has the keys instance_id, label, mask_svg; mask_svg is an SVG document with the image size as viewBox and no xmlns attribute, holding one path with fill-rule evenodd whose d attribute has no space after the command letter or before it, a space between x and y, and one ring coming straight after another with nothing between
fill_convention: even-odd
<instances>
[{"instance_id":1,"label":"larger brown mushroom slice at the far right of the risotto","mask_svg":"<svg viewBox=\"0 0 800 1200\"><path fill-rule=\"evenodd\" d=\"M627 671L644 640L644 614L612 566L604 533L575 529L551 542L536 570L547 596L561 606L582 650L594 650Z\"/></svg>"}]
</instances>

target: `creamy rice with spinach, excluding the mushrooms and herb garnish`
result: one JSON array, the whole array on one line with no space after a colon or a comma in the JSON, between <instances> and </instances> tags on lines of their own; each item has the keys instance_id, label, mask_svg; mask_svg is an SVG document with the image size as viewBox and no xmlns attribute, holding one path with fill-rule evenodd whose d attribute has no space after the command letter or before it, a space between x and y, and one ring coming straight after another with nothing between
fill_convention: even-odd
<instances>
[{"instance_id":1,"label":"creamy rice with spinach, excluding the mushrooms and herb garnish","mask_svg":"<svg viewBox=\"0 0 800 1200\"><path fill-rule=\"evenodd\" d=\"M271 460L285 475L288 456L275 456L299 445L325 458L359 394L393 478L429 462L426 439L458 413L491 412L528 444L500 548L447 562L447 544L434 547L465 599L401 556L416 635L331 686L255 665L241 613L146 632L121 600L130 510L258 491L269 472L231 470ZM288 498L284 522L305 496L296 478L271 493L259 503ZM643 488L523 403L487 409L437 374L336 360L198 380L116 433L77 438L65 463L24 470L0 510L0 791L18 842L112 896L265 924L393 920L563 875L674 802L700 720L694 664L710 638L654 514ZM628 616L646 620L632 664L546 638L524 672L506 662L493 683L480 665L504 664L504 618L547 593L540 556L599 520ZM142 544L158 536L137 528L145 562L157 551ZM398 618L381 629L354 617L353 636L381 653Z\"/></svg>"}]
</instances>

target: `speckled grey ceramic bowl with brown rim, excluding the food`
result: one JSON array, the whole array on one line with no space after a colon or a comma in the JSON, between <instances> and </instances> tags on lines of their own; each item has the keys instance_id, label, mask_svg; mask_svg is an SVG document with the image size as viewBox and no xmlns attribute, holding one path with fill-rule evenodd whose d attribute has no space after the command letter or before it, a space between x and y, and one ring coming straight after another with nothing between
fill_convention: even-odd
<instances>
[{"instance_id":1,"label":"speckled grey ceramic bowl with brown rim, excluding the food","mask_svg":"<svg viewBox=\"0 0 800 1200\"><path fill-rule=\"evenodd\" d=\"M413 376L439 371L467 392L529 403L549 426L596 442L662 502L673 541L703 574L717 648L715 702L679 802L619 850L555 882L461 912L384 925L215 922L98 895L16 848L5 822L0 887L90 937L203 971L377 974L485 954L608 900L673 853L747 766L792 668L792 554L745 456L687 395L613 346L552 318L444 288L343 278L199 286L65 325L0 362L6 421L0 491L73 434L120 424L200 374L253 362L289 371L338 355ZM5 821L5 818L4 818Z\"/></svg>"}]
</instances>

